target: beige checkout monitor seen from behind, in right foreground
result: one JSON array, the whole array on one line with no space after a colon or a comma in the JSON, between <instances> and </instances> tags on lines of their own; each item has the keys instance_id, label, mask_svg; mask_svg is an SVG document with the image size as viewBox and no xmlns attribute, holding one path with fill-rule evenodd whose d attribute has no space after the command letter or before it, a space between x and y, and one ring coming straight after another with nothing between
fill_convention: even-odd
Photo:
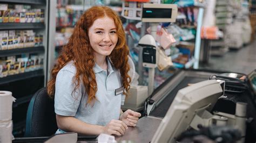
<instances>
[{"instance_id":1,"label":"beige checkout monitor seen from behind, in right foreground","mask_svg":"<svg viewBox=\"0 0 256 143\"><path fill-rule=\"evenodd\" d=\"M221 95L223 88L216 80L203 81L180 89L151 142L176 142L182 132L192 127L193 118L201 111L211 111Z\"/></svg>"}]
</instances>

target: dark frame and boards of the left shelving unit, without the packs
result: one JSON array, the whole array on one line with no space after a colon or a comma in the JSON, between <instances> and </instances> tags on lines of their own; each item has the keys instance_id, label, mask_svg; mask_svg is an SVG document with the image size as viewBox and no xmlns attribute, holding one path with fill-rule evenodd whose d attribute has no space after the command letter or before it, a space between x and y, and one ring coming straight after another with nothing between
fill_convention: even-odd
<instances>
[{"instance_id":1,"label":"dark frame and boards of the left shelving unit, without the packs","mask_svg":"<svg viewBox=\"0 0 256 143\"><path fill-rule=\"evenodd\" d=\"M8 75L0 78L0 90L12 92L16 102L12 106L13 134L23 137L26 111L30 99L35 92L44 87L46 83L47 53L48 53L48 6L46 0L2 0L1 4L31 5L31 8L44 9L44 23L0 23L0 30L33 30L43 35L43 46L14 48L0 50L0 58L16 55L40 54L44 55L43 69L25 71L24 73Z\"/></svg>"}]
</instances>

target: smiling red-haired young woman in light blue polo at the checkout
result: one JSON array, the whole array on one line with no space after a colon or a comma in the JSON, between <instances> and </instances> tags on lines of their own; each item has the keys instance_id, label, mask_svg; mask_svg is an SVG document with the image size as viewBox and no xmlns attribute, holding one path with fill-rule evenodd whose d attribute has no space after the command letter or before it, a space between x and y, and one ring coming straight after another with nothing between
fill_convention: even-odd
<instances>
[{"instance_id":1,"label":"smiling red-haired young woman in light blue polo at the checkout","mask_svg":"<svg viewBox=\"0 0 256 143\"><path fill-rule=\"evenodd\" d=\"M55 98L56 133L122 135L140 113L120 110L131 78L122 22L106 6L93 6L77 22L52 69L48 94Z\"/></svg>"}]
</instances>

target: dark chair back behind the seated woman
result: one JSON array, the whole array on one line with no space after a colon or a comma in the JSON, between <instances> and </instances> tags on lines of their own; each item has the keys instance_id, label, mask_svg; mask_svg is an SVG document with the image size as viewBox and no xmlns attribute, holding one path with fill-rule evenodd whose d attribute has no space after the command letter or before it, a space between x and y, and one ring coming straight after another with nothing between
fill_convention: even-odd
<instances>
[{"instance_id":1,"label":"dark chair back behind the seated woman","mask_svg":"<svg viewBox=\"0 0 256 143\"><path fill-rule=\"evenodd\" d=\"M54 99L49 98L46 88L33 95L26 114L25 137L46 137L57 131Z\"/></svg>"}]
</instances>

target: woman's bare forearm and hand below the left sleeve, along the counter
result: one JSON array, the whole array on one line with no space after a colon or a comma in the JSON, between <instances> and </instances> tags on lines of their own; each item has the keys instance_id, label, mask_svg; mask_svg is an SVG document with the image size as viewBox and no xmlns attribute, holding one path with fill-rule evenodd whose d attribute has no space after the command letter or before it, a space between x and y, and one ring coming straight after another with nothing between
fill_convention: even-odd
<instances>
[{"instance_id":1,"label":"woman's bare forearm and hand below the left sleeve, along the counter","mask_svg":"<svg viewBox=\"0 0 256 143\"><path fill-rule=\"evenodd\" d=\"M78 134L99 135L100 133L122 135L127 126L121 120L111 120L106 126L87 124L71 116L56 115L57 125L63 131L77 132Z\"/></svg>"}]
</instances>

